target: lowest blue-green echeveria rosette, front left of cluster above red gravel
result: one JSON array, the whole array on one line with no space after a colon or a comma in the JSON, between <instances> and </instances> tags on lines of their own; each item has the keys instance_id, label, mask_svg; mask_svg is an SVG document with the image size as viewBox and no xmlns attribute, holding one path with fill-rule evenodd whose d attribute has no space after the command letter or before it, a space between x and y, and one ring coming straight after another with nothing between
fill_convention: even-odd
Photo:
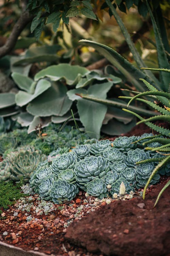
<instances>
[{"instance_id":1,"label":"lowest blue-green echeveria rosette, front left of cluster above red gravel","mask_svg":"<svg viewBox=\"0 0 170 256\"><path fill-rule=\"evenodd\" d=\"M64 201L71 201L78 193L79 189L76 184L58 179L53 182L50 197L54 203L60 204Z\"/></svg>"}]
</instances>

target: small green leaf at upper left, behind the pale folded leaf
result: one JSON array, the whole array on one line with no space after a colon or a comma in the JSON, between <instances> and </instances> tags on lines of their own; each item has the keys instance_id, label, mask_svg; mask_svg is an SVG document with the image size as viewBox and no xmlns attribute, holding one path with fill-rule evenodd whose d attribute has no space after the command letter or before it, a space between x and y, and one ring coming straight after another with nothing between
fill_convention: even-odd
<instances>
[{"instance_id":1,"label":"small green leaf at upper left, behind the pale folded leaf","mask_svg":"<svg viewBox=\"0 0 170 256\"><path fill-rule=\"evenodd\" d=\"M17 72L13 72L11 76L20 89L30 93L31 84L34 82L30 77Z\"/></svg>"}]
</instances>

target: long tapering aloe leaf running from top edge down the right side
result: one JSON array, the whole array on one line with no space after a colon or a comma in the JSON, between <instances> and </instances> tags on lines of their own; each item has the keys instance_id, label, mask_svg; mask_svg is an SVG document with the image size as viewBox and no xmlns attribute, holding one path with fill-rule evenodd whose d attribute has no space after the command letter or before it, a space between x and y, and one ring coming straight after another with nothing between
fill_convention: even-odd
<instances>
[{"instance_id":1,"label":"long tapering aloe leaf running from top edge down the right side","mask_svg":"<svg viewBox=\"0 0 170 256\"><path fill-rule=\"evenodd\" d=\"M155 22L153 13L150 9L150 6L148 4L148 1L146 1L147 3L147 7L148 7L148 11L150 13L150 17L152 20L152 25L153 25L153 30L154 30L154 34L155 34L155 40L156 40L156 47L157 47L157 55L158 55L158 63L159 63L159 68L165 68L165 69L170 69L170 65L166 56L166 52L164 49L164 45L159 33L159 29L157 27L157 24ZM170 76L168 73L163 73L162 71L160 71L160 77L162 80L162 90L170 92L170 87L169 87L169 80L170 80Z\"/></svg>"}]
</instances>

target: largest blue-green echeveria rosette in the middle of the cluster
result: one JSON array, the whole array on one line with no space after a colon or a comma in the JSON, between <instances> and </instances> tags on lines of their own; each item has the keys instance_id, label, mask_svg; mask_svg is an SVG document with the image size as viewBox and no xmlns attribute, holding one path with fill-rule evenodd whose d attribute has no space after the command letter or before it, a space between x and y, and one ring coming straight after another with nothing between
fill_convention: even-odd
<instances>
[{"instance_id":1,"label":"largest blue-green echeveria rosette in the middle of the cluster","mask_svg":"<svg viewBox=\"0 0 170 256\"><path fill-rule=\"evenodd\" d=\"M86 185L96 177L103 177L109 171L109 165L103 156L89 156L77 162L74 167L77 185L86 191Z\"/></svg>"}]
</instances>

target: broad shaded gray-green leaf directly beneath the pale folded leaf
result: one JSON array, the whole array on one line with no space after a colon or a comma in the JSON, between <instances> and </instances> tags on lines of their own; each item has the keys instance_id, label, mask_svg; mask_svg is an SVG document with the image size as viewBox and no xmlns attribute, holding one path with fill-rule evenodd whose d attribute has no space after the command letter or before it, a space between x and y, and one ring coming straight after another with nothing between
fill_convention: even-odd
<instances>
[{"instance_id":1,"label":"broad shaded gray-green leaf directly beneath the pale folded leaf","mask_svg":"<svg viewBox=\"0 0 170 256\"><path fill-rule=\"evenodd\" d=\"M63 116L72 104L63 84L53 83L51 88L29 103L27 111L36 116Z\"/></svg>"}]
</instances>

